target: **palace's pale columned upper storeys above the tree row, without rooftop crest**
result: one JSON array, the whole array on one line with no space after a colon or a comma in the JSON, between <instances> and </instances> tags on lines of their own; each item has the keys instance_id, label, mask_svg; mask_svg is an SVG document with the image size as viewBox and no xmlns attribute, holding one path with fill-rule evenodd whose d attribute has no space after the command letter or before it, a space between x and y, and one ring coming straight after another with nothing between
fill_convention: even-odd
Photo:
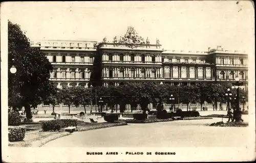
<instances>
[{"instance_id":1,"label":"palace's pale columned upper storeys above the tree row, without rooftop crest","mask_svg":"<svg viewBox=\"0 0 256 163\"><path fill-rule=\"evenodd\" d=\"M208 51L165 50L159 43L117 41L31 42L51 64L51 80L63 86L118 86L122 82L156 82L194 85L202 82L233 83L236 77L248 89L248 56L221 46Z\"/></svg>"}]
</instances>

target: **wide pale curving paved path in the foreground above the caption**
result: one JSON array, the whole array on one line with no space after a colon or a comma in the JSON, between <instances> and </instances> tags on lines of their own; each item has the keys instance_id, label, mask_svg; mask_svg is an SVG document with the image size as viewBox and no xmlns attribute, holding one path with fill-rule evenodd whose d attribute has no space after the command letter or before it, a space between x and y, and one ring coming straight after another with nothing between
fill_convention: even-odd
<instances>
[{"instance_id":1,"label":"wide pale curving paved path in the foreground above the caption","mask_svg":"<svg viewBox=\"0 0 256 163\"><path fill-rule=\"evenodd\" d=\"M42 147L245 147L248 144L248 127L203 125L219 121L221 118L180 120L74 132Z\"/></svg>"}]
</instances>

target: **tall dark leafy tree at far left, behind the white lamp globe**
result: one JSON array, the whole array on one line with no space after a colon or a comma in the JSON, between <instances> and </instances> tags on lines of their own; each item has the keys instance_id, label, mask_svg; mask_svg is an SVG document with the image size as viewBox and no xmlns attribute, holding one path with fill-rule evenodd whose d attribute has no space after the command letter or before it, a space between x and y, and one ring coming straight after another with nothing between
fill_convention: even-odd
<instances>
[{"instance_id":1,"label":"tall dark leafy tree at far left, behind the white lamp globe","mask_svg":"<svg viewBox=\"0 0 256 163\"><path fill-rule=\"evenodd\" d=\"M14 61L13 61L14 60ZM8 69L15 66L15 74L8 71L8 105L15 110L25 107L31 119L31 105L41 103L49 93L52 65L39 49L31 47L29 39L18 24L8 21Z\"/></svg>"}]
</instances>

